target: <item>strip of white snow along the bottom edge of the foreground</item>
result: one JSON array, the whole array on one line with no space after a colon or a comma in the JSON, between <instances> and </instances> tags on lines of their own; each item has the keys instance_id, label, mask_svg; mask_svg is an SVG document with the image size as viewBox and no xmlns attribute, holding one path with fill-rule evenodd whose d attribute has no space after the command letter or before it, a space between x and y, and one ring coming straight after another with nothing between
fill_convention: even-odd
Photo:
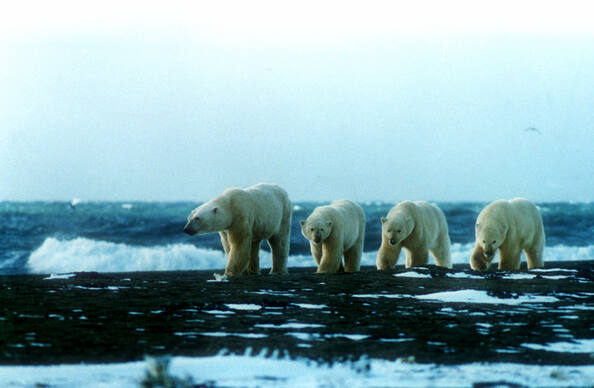
<instances>
[{"instance_id":1,"label":"strip of white snow along the bottom edge of the foreground","mask_svg":"<svg viewBox=\"0 0 594 388\"><path fill-rule=\"evenodd\" d=\"M229 368L233 365L233 368ZM71 364L55 366L0 366L2 386L138 387L146 362ZM364 359L317 365L304 359L262 355L173 357L169 372L190 376L194 384L225 387L366 387L472 386L479 382L506 382L522 386L589 386L594 365L559 366L513 363L461 365L419 364L406 360ZM411 373L414 372L414 373Z\"/></svg>"}]
</instances>

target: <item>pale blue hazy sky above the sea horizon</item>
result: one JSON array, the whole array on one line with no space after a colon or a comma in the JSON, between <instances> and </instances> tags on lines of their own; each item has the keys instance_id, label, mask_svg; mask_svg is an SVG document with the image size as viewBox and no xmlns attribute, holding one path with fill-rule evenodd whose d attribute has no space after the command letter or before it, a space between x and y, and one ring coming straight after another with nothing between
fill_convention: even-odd
<instances>
[{"instance_id":1,"label":"pale blue hazy sky above the sea horizon","mask_svg":"<svg viewBox=\"0 0 594 388\"><path fill-rule=\"evenodd\" d=\"M98 3L3 9L0 200L594 200L588 2Z\"/></svg>"}]
</instances>

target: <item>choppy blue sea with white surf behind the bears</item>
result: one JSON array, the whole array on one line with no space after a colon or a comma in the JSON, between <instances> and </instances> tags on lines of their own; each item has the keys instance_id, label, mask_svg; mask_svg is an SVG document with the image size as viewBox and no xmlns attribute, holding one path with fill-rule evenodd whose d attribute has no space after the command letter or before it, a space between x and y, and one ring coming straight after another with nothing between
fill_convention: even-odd
<instances>
[{"instance_id":1,"label":"choppy blue sea with white surf behind the bears","mask_svg":"<svg viewBox=\"0 0 594 388\"><path fill-rule=\"evenodd\" d=\"M324 203L293 203L291 267L314 266L299 221ZM445 213L452 262L468 263L474 223L486 203L436 203ZM199 202L0 202L0 274L80 271L223 271L218 234L188 236L183 227ZM375 265L380 217L394 203L361 203L367 218L362 265ZM538 203L545 226L545 262L594 258L594 203ZM398 264L404 263L401 254ZM431 260L431 259L430 259ZM260 267L270 267L263 243Z\"/></svg>"}]
</instances>

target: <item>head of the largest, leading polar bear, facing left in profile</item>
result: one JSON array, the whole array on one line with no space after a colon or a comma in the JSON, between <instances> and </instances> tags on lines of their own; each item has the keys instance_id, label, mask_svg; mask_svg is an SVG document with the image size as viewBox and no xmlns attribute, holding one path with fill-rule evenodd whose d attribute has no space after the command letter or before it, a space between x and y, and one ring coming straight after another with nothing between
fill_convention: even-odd
<instances>
[{"instance_id":1,"label":"head of the largest, leading polar bear, facing left in profile","mask_svg":"<svg viewBox=\"0 0 594 388\"><path fill-rule=\"evenodd\" d=\"M184 232L190 236L220 232L228 229L231 222L232 214L229 206L214 199L192 210Z\"/></svg>"}]
</instances>

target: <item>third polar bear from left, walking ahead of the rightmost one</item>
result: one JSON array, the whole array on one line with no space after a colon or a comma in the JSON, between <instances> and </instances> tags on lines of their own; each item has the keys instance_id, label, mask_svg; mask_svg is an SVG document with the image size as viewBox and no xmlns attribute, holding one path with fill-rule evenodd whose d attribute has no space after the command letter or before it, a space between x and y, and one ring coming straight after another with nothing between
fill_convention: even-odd
<instances>
[{"instance_id":1,"label":"third polar bear from left, walking ahead of the rightmost one","mask_svg":"<svg viewBox=\"0 0 594 388\"><path fill-rule=\"evenodd\" d=\"M450 236L443 211L425 201L403 201L382 221L382 245L377 253L377 269L396 265L401 248L406 268L427 265L429 252L440 267L452 268Z\"/></svg>"}]
</instances>

